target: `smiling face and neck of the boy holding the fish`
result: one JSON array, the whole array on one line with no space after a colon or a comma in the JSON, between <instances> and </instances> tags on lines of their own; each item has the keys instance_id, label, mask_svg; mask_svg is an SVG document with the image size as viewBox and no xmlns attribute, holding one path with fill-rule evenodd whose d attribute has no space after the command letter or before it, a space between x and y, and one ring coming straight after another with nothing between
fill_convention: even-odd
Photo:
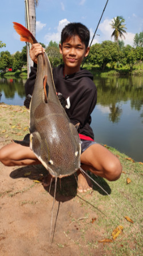
<instances>
[{"instance_id":1,"label":"smiling face and neck of the boy holding the fish","mask_svg":"<svg viewBox=\"0 0 143 256\"><path fill-rule=\"evenodd\" d=\"M59 44L59 51L65 63L65 74L70 75L80 70L82 60L89 54L89 47L85 48L80 37L74 36Z\"/></svg>"}]
</instances>

